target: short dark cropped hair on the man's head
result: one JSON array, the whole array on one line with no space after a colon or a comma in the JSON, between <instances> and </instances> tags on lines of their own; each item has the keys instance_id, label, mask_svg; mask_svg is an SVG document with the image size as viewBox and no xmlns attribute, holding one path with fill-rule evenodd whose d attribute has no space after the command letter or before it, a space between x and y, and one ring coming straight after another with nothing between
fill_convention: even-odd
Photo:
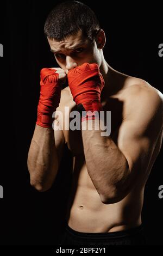
<instances>
[{"instance_id":1,"label":"short dark cropped hair on the man's head","mask_svg":"<svg viewBox=\"0 0 163 256\"><path fill-rule=\"evenodd\" d=\"M99 28L95 13L87 5L78 1L67 1L58 4L49 13L44 33L49 39L61 41L82 31L93 42Z\"/></svg>"}]
</instances>

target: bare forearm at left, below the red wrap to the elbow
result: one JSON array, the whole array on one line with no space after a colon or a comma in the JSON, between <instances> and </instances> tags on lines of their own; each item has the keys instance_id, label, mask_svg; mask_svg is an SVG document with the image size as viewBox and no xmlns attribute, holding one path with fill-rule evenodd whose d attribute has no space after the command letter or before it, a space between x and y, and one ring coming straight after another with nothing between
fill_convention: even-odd
<instances>
[{"instance_id":1,"label":"bare forearm at left, below the red wrap to the elbow","mask_svg":"<svg viewBox=\"0 0 163 256\"><path fill-rule=\"evenodd\" d=\"M36 125L28 153L30 182L37 190L47 190L58 171L54 130Z\"/></svg>"}]
</instances>

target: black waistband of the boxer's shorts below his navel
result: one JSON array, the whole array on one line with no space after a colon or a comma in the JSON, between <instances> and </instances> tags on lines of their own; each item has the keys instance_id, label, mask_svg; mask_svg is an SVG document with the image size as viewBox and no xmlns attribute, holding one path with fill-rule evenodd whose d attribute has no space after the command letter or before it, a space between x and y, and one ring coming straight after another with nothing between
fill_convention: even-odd
<instances>
[{"instance_id":1,"label":"black waistband of the boxer's shorts below his navel","mask_svg":"<svg viewBox=\"0 0 163 256\"><path fill-rule=\"evenodd\" d=\"M139 235L143 231L143 224L130 228L127 230L122 230L122 231L114 231L114 232L105 232L105 233L85 233L85 232L79 232L76 231L68 224L66 225L66 230L69 234L72 236L80 237L80 238L85 238L85 237L90 237L90 238L95 238L95 239L100 239L100 238L107 238L107 239L115 239L115 238L122 238L122 237L129 237L129 236L134 236L134 235Z\"/></svg>"}]
</instances>

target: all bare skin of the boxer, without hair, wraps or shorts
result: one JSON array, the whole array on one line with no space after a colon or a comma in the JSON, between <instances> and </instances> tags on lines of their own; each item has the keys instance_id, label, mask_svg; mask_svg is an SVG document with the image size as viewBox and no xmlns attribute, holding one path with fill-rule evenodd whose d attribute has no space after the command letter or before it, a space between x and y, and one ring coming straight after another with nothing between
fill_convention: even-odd
<instances>
[{"instance_id":1,"label":"all bare skin of the boxer, without hair, wraps or shorts","mask_svg":"<svg viewBox=\"0 0 163 256\"><path fill-rule=\"evenodd\" d=\"M34 144L33 150L29 150L29 155L35 154L35 157L41 152L39 161L44 161L42 166L47 173L43 175L35 161L37 172L29 168L32 185L39 191L52 186L67 143L73 155L73 180L66 216L68 225L74 230L91 233L136 227L141 224L146 181L161 148L163 95L146 81L122 74L106 63L102 30L92 44L80 31L60 42L51 39L48 42L51 51L57 51L54 57L60 66L57 72L63 82L68 70L76 66L85 62L99 65L105 81L101 102L104 111L111 111L111 135L102 137L101 130L95 129L66 131L62 127L62 131L53 131L54 148L50 143L45 147L45 152L53 151L54 155L50 153L49 157L51 161L47 161L42 150L36 152ZM70 50L81 43L80 49ZM70 111L76 110L69 87L62 90L57 110L64 114L65 106L70 107ZM65 118L70 121L68 115ZM96 121L93 120L93 125ZM55 122L61 126L59 117ZM90 121L84 121L82 126L85 122ZM41 136L47 130L53 137L51 129L36 126L35 132ZM33 166L34 160L30 156L28 159ZM51 168L47 168L45 163L48 162L54 163Z\"/></svg>"}]
</instances>

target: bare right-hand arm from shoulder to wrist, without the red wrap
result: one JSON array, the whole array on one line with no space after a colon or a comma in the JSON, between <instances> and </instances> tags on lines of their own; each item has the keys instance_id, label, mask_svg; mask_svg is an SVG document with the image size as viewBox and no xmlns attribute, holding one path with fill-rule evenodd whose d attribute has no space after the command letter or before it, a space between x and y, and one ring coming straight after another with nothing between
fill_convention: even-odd
<instances>
[{"instance_id":1,"label":"bare right-hand arm from shoulder to wrist, without the red wrap","mask_svg":"<svg viewBox=\"0 0 163 256\"><path fill-rule=\"evenodd\" d=\"M103 203L122 200L141 181L162 130L162 99L155 91L136 92L118 131L117 145L101 130L82 130L87 171ZM135 102L135 104L133 103ZM135 105L135 106L134 106ZM149 107L150 106L150 107ZM93 121L93 127L98 120Z\"/></svg>"}]
</instances>

